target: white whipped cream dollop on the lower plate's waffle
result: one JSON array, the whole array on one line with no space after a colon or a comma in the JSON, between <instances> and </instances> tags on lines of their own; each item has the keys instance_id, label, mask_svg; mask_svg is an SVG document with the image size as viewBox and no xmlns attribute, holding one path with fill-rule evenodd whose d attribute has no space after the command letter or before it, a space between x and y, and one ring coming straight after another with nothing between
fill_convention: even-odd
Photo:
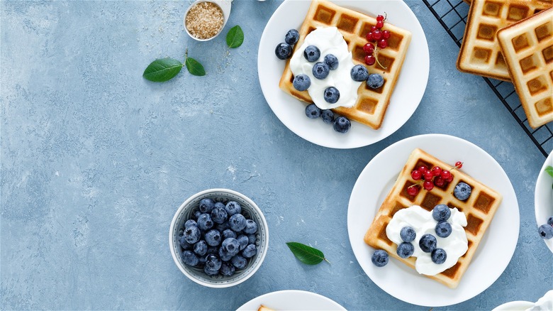
<instances>
[{"instance_id":1,"label":"white whipped cream dollop on the lower plate's waffle","mask_svg":"<svg viewBox=\"0 0 553 311\"><path fill-rule=\"evenodd\" d=\"M452 233L442 238L437 236L435 228L437 221L432 218L432 212L428 212L423 207L413 205L406 209L400 209L386 227L386 235L390 241L395 244L401 244L403 240L400 236L400 231L403 227L412 227L416 232L415 241L411 242L415 246L413 256L416 257L415 269L420 274L436 275L443 272L457 263L459 257L469 249L469 241L463 227L467 226L467 217L463 212L459 212L457 208L451 210L451 216L447 219L451 224ZM432 234L437 240L437 248L443 249L447 253L447 258L444 263L432 262L430 253L425 253L418 241L425 234Z\"/></svg>"}]
</instances>

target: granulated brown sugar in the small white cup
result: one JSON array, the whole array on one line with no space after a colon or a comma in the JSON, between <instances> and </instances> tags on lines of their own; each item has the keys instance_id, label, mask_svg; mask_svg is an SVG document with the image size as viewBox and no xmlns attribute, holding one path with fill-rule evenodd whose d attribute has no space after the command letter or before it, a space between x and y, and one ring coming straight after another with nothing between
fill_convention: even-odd
<instances>
[{"instance_id":1,"label":"granulated brown sugar in the small white cup","mask_svg":"<svg viewBox=\"0 0 553 311\"><path fill-rule=\"evenodd\" d=\"M223 11L212 2L194 4L186 14L186 29L199 39L216 36L223 28Z\"/></svg>"}]
</instances>

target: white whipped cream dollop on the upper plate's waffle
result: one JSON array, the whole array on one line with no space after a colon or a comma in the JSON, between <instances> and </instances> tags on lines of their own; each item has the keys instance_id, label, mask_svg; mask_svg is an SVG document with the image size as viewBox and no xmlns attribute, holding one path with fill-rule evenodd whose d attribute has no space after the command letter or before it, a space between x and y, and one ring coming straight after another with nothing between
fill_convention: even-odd
<instances>
[{"instance_id":1,"label":"white whipped cream dollop on the upper plate's waffle","mask_svg":"<svg viewBox=\"0 0 553 311\"><path fill-rule=\"evenodd\" d=\"M320 58L315 62L308 62L303 57L303 50L309 45L315 45L320 50ZM330 70L328 77L318 80L313 76L313 65L324 62L325 56L333 54L338 59L338 67ZM351 77L352 53L347 49L344 37L336 27L319 27L309 33L303 44L290 60L290 69L296 75L307 75L311 79L311 86L307 89L309 96L320 109L336 107L352 107L357 102L357 89L362 82L356 82ZM340 99L335 104L325 101L324 92L327 87L335 87L340 92Z\"/></svg>"}]
</instances>

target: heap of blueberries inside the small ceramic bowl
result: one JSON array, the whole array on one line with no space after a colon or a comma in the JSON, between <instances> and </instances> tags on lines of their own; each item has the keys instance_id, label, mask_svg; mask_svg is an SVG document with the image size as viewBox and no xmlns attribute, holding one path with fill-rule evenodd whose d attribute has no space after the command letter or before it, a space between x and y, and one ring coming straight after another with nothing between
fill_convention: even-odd
<instances>
[{"instance_id":1,"label":"heap of blueberries inside the small ceramic bowl","mask_svg":"<svg viewBox=\"0 0 553 311\"><path fill-rule=\"evenodd\" d=\"M240 203L203 199L179 231L182 261L207 275L232 276L257 253L256 232L257 223L246 219Z\"/></svg>"}]
</instances>

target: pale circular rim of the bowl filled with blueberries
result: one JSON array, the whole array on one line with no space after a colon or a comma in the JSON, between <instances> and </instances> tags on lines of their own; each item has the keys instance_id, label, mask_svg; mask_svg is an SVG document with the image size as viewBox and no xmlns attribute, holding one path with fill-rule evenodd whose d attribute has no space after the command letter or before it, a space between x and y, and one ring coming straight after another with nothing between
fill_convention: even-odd
<instances>
[{"instance_id":1,"label":"pale circular rim of the bowl filled with blueberries","mask_svg":"<svg viewBox=\"0 0 553 311\"><path fill-rule=\"evenodd\" d=\"M191 201L195 200L197 197L201 197L202 195L206 195L210 192L227 192L227 193L230 193L231 195L241 197L242 200L244 200L248 204L250 204L253 207L253 209L255 209L256 212L259 214L259 216L261 218L261 221L262 221L262 226L265 228L265 231L267 232L265 247L264 247L264 249L262 249L262 252L257 255L257 256L259 256L259 264L257 266L254 266L253 270L248 275L246 275L244 278L242 278L242 279L240 279L236 282L233 282L233 283L212 284L212 283L206 283L206 282L202 282L201 280L198 280L194 275L192 275L191 273L186 271L180 265L179 258L177 257L177 256L179 256L179 254L175 253L175 251L174 251L175 247L174 247L174 244L173 244L173 232L174 232L174 227L177 224L177 219L179 217L179 214L182 212L184 207L186 207L186 205L188 205ZM184 201L181 204L179 209L177 209L177 212L175 212L175 214L173 216L173 219L171 221L171 225L169 226L169 249L171 251L171 256L173 257L174 263L177 265L177 267L179 267L179 270L184 275L186 275L190 280L193 280L194 282L196 282L200 285L207 286L207 287L210 287L210 288L229 288L231 286L238 285L238 284L244 282L245 280L247 280L248 278L250 278L252 275L255 274L255 272L257 272L257 269L259 269L259 267L262 265L263 261L265 260L265 256L267 255L267 250L269 249L269 226L267 225L267 221L265 220L265 216L264 216L263 212L261 211L261 209L259 209L257 204L255 204L255 202L253 202L253 200L250 199L250 197L247 197L247 196L243 195L240 192L230 190L230 189L225 189L225 188L213 188L213 189L203 190L203 191L200 191L200 192L196 193L195 195L191 195L191 197L186 199L186 201Z\"/></svg>"}]
</instances>

